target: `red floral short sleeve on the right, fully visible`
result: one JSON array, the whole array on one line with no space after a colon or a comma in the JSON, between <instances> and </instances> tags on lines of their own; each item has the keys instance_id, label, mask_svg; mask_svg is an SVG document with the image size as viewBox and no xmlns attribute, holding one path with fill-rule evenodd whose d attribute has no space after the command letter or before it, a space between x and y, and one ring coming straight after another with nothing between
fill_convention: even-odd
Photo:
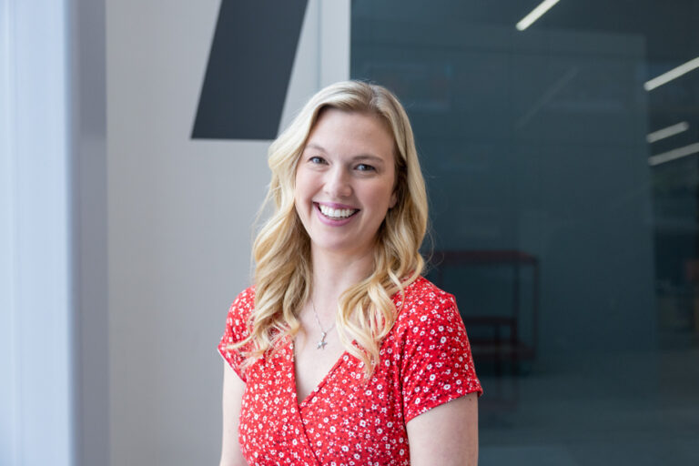
<instances>
[{"instance_id":1,"label":"red floral short sleeve on the right, fully visible","mask_svg":"<svg viewBox=\"0 0 699 466\"><path fill-rule=\"evenodd\" d=\"M406 422L467 393L483 392L454 297L441 291L418 306L405 329L401 363Z\"/></svg>"}]
</instances>

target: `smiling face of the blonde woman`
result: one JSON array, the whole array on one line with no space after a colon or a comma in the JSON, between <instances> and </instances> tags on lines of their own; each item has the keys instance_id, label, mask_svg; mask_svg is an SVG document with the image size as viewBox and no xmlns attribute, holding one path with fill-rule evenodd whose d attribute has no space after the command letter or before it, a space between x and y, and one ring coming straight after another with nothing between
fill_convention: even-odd
<instances>
[{"instance_id":1,"label":"smiling face of the blonde woman","mask_svg":"<svg viewBox=\"0 0 699 466\"><path fill-rule=\"evenodd\" d=\"M296 170L296 210L313 253L363 256L396 203L394 141L374 115L327 108Z\"/></svg>"}]
</instances>

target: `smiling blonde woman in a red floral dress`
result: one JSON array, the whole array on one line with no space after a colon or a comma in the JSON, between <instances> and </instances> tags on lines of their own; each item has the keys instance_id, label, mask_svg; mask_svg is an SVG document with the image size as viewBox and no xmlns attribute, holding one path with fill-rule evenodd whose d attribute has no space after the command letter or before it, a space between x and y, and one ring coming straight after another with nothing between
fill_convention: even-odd
<instances>
[{"instance_id":1,"label":"smiling blonde woman in a red floral dress","mask_svg":"<svg viewBox=\"0 0 699 466\"><path fill-rule=\"evenodd\" d=\"M453 297L420 277L427 197L398 100L326 87L269 167L255 286L218 345L220 464L476 464L481 385Z\"/></svg>"}]
</instances>

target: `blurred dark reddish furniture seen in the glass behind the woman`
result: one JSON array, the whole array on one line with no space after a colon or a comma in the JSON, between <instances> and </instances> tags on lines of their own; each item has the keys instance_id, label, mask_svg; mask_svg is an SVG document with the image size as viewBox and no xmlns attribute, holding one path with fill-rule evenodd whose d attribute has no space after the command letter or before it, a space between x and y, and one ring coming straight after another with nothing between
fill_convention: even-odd
<instances>
[{"instance_id":1,"label":"blurred dark reddish furniture seen in the glass behind the woman","mask_svg":"<svg viewBox=\"0 0 699 466\"><path fill-rule=\"evenodd\" d=\"M512 308L502 315L470 315L461 313L466 328L469 329L471 352L475 360L491 360L495 363L496 374L501 374L501 364L511 363L512 370L521 369L522 361L531 361L536 356L537 326L539 314L539 259L518 250L443 250L434 253L436 283L442 286L445 273L450 268L506 266L512 268ZM522 268L532 268L532 334L522 339L521 282ZM462 304L463 306L463 304ZM465 309L465 308L464 308ZM486 328L486 337L471 330Z\"/></svg>"}]
</instances>

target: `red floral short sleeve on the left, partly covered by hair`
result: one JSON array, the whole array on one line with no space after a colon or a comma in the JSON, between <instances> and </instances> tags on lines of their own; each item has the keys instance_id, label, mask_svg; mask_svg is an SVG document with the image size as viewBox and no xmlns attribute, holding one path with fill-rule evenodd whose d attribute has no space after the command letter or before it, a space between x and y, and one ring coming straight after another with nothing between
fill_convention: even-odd
<instances>
[{"instance_id":1,"label":"red floral short sleeve on the left, partly covered by hair","mask_svg":"<svg viewBox=\"0 0 699 466\"><path fill-rule=\"evenodd\" d=\"M254 289L248 288L238 295L238 298L236 298L233 304L230 305L230 308L228 308L226 329L218 343L218 353L228 362L228 365L236 371L238 377L243 381L246 380L241 365L245 357L241 349L230 348L230 346L248 337L248 318L254 306Z\"/></svg>"}]
</instances>

